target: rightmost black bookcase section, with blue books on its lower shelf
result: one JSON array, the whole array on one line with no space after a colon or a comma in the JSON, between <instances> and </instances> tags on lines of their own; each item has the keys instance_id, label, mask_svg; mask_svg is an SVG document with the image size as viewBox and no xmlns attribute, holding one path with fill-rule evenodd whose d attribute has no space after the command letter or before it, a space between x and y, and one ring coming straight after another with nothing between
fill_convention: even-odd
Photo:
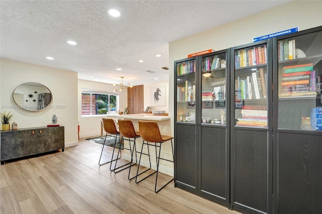
<instances>
[{"instance_id":1,"label":"rightmost black bookcase section, with blue books on its lower shelf","mask_svg":"<svg viewBox=\"0 0 322 214\"><path fill-rule=\"evenodd\" d=\"M274 38L273 55L274 212L318 213L322 210L322 27Z\"/></svg>"}]
</instances>

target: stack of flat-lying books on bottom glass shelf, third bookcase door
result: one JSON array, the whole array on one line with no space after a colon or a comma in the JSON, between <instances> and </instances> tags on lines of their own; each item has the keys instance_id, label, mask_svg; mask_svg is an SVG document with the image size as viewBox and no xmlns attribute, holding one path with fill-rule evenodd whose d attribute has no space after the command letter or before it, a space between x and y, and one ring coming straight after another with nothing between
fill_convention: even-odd
<instances>
[{"instance_id":1,"label":"stack of flat-lying books on bottom glass shelf, third bookcase door","mask_svg":"<svg viewBox=\"0 0 322 214\"><path fill-rule=\"evenodd\" d=\"M267 127L266 105L243 105L237 126Z\"/></svg>"}]
</instances>

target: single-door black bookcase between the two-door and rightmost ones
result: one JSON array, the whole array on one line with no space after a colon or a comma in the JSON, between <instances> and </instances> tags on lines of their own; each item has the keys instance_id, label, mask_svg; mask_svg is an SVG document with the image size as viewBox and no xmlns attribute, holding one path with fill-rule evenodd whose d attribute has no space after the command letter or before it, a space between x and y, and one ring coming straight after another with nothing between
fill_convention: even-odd
<instances>
[{"instance_id":1,"label":"single-door black bookcase between the two-door and rightmost ones","mask_svg":"<svg viewBox=\"0 0 322 214\"><path fill-rule=\"evenodd\" d=\"M271 40L232 48L230 206L272 210Z\"/></svg>"}]
</instances>

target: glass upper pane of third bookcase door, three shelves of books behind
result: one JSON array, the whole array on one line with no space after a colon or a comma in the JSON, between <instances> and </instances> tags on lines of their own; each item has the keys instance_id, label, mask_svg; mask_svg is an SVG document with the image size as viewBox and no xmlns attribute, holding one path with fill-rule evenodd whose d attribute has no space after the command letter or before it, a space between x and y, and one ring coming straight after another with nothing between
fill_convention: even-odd
<instances>
[{"instance_id":1,"label":"glass upper pane of third bookcase door, three shelves of books behind","mask_svg":"<svg viewBox=\"0 0 322 214\"><path fill-rule=\"evenodd\" d=\"M267 44L235 50L235 125L267 127Z\"/></svg>"}]
</instances>

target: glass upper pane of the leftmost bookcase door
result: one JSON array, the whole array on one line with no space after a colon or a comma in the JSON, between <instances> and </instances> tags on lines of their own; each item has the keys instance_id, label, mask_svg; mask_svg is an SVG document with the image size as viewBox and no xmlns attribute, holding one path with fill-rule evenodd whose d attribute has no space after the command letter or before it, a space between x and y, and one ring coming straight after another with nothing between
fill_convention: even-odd
<instances>
[{"instance_id":1,"label":"glass upper pane of the leftmost bookcase door","mask_svg":"<svg viewBox=\"0 0 322 214\"><path fill-rule=\"evenodd\" d=\"M196 123L196 60L177 63L177 122Z\"/></svg>"}]
</instances>

